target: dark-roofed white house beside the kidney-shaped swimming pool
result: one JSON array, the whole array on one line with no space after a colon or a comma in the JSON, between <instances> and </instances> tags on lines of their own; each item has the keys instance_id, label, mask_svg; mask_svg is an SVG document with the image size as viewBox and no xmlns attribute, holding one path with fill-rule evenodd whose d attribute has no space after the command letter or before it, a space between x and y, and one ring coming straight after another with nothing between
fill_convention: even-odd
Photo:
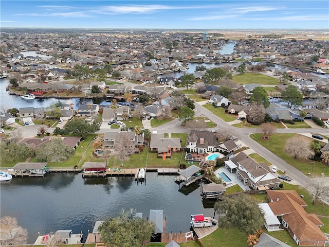
<instances>
[{"instance_id":1,"label":"dark-roofed white house beside the kidney-shaped swimming pool","mask_svg":"<svg viewBox=\"0 0 329 247\"><path fill-rule=\"evenodd\" d=\"M214 132L191 130L186 148L191 153L207 153L217 151L218 142Z\"/></svg>"}]
</instances>

